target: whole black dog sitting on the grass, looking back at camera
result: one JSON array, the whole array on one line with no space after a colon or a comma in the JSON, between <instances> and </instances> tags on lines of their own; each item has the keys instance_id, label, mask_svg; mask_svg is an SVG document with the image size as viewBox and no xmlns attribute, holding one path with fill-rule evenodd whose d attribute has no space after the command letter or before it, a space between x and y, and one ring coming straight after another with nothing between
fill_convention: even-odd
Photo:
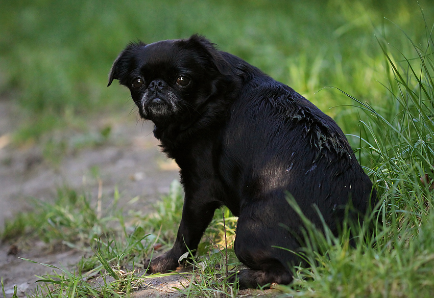
<instances>
[{"instance_id":1,"label":"whole black dog sitting on the grass, looking back at camera","mask_svg":"<svg viewBox=\"0 0 434 298\"><path fill-rule=\"evenodd\" d=\"M336 123L292 88L217 50L203 37L129 44L109 74L127 86L143 119L181 171L185 191L174 247L150 263L152 272L175 270L195 250L214 210L239 216L235 254L251 269L240 288L288 284L302 221L286 201L332 231L349 201L363 214L375 198ZM282 226L291 228L288 231Z\"/></svg>"}]
</instances>

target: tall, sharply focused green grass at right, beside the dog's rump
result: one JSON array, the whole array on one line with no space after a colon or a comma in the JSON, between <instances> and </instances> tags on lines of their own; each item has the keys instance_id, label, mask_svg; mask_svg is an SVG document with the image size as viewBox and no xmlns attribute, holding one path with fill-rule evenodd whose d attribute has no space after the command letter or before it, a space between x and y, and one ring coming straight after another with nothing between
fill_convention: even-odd
<instances>
[{"instance_id":1,"label":"tall, sharply focused green grass at right, beside the dog's rump","mask_svg":"<svg viewBox=\"0 0 434 298\"><path fill-rule=\"evenodd\" d=\"M361 233L355 248L306 228L323 254L306 250L309 268L298 268L290 286L302 297L429 297L434 292L434 59L432 28L427 40L405 55L379 40L390 70L387 109L356 100L366 112L361 150L375 180L380 223L372 236ZM412 55L414 58L407 58ZM425 180L424 180L425 179ZM372 216L375 218L375 214ZM375 221L374 221L375 222Z\"/></svg>"}]
</instances>

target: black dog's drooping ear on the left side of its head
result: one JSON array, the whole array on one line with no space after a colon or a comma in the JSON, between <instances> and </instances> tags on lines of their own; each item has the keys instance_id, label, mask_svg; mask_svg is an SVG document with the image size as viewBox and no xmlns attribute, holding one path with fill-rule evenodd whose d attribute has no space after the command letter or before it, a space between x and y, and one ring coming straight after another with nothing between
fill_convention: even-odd
<instances>
[{"instance_id":1,"label":"black dog's drooping ear on the left side of its head","mask_svg":"<svg viewBox=\"0 0 434 298\"><path fill-rule=\"evenodd\" d=\"M120 84L123 84L123 78L126 78L127 74L131 71L131 62L134 58L135 51L143 46L146 46L146 44L141 41L138 43L130 43L122 52L119 53L111 66L107 87L111 85L114 79L118 79Z\"/></svg>"}]
</instances>

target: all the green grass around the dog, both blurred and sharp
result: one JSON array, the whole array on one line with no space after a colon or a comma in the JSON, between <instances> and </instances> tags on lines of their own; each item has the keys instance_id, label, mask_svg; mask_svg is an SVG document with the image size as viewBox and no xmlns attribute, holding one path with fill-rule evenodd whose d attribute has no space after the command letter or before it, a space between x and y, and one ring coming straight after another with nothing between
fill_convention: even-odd
<instances>
[{"instance_id":1,"label":"all the green grass around the dog, both blurred and sharp","mask_svg":"<svg viewBox=\"0 0 434 298\"><path fill-rule=\"evenodd\" d=\"M360 232L355 248L348 246L348 236L323 236L306 223L310 245L304 257L310 267L296 268L294 283L279 287L283 294L431 297L434 6L429 1L419 5L403 0L2 1L0 92L3 100L16 101L26 116L15 131L15 146L37 142L54 129L67 129L93 115L119 110L128 114L128 91L106 88L111 63L128 41L201 33L293 87L353 135L349 140L360 148L357 157L381 197L382 212L370 219L376 222L380 214L377 232ZM331 86L336 88L324 88ZM3 239L32 233L47 242L98 242L94 256L83 259L75 275L44 277L60 288L44 295L117 295L140 282L134 274L121 274L120 266L134 266L149 256L157 236L170 246L182 194L173 186L159 211L147 220L137 219L134 226L126 226L115 207L106 218L98 218L88 198L74 191L60 193L58 200L17 216L6 225ZM71 208L56 207L65 205ZM235 219L227 211L225 217L231 238ZM218 243L224 251L221 212L213 226L217 228L207 234L216 238L208 245ZM226 259L217 253L201 260L209 262L198 269L202 278L184 291L189 296L236 296L224 279L212 279L213 264L233 264L233 255ZM101 268L115 282L105 288L82 282ZM224 276L221 268L218 273Z\"/></svg>"}]
</instances>

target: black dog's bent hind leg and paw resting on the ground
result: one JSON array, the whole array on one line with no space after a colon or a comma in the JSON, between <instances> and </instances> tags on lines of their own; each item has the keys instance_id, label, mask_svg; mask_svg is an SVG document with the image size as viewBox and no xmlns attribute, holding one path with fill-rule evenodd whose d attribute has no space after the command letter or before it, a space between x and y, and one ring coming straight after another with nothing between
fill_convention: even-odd
<instances>
[{"instance_id":1,"label":"black dog's bent hind leg and paw resting on the ground","mask_svg":"<svg viewBox=\"0 0 434 298\"><path fill-rule=\"evenodd\" d=\"M291 283L290 268L301 260L286 249L297 251L300 244L290 231L279 225L281 214L267 214L257 206L251 207L239 216L234 243L236 256L251 269L240 270L230 282L237 280L240 289ZM286 216L296 216L285 212Z\"/></svg>"}]
</instances>

